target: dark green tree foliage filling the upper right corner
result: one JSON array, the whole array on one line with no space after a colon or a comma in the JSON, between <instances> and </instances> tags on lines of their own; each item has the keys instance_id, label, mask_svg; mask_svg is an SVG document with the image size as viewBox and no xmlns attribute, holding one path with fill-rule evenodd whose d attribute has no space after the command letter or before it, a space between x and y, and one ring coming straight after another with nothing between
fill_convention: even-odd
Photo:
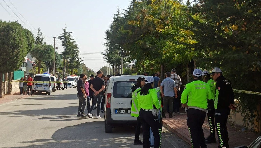
<instances>
[{"instance_id":1,"label":"dark green tree foliage filling the upper right corner","mask_svg":"<svg viewBox=\"0 0 261 148\"><path fill-rule=\"evenodd\" d=\"M191 7L191 30L201 53L200 67L219 66L234 89L260 92L261 5L260 1L196 1ZM236 94L245 112L245 121L257 119L260 96ZM248 114L249 113L249 114ZM247 125L246 125L247 126Z\"/></svg>"}]
</instances>

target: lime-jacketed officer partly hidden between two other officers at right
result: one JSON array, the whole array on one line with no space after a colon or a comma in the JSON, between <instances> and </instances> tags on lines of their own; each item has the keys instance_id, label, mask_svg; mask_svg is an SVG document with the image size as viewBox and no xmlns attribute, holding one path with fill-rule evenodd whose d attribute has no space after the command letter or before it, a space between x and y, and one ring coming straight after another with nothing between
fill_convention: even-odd
<instances>
[{"instance_id":1,"label":"lime-jacketed officer partly hidden between two other officers at right","mask_svg":"<svg viewBox=\"0 0 261 148\"><path fill-rule=\"evenodd\" d=\"M212 95L215 95L216 89L216 82L210 78L209 71L204 70L202 72L203 81L209 84L210 90ZM207 117L210 125L210 135L205 139L205 143L216 143L215 138L215 123L214 123L214 115L215 115L215 108L214 108L214 97L213 99L207 100L208 104L208 112Z\"/></svg>"}]
</instances>

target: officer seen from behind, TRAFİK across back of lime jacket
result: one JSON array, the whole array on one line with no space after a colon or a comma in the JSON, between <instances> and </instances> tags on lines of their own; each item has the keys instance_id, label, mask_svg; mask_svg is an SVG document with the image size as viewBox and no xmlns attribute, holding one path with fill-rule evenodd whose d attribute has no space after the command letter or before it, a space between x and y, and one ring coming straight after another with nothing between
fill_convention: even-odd
<instances>
[{"instance_id":1,"label":"officer seen from behind, TRAF\u0130K across back of lime jacket","mask_svg":"<svg viewBox=\"0 0 261 148\"><path fill-rule=\"evenodd\" d=\"M212 93L209 84L201 81L202 71L195 69L193 71L194 80L184 88L181 95L182 107L188 107L187 125L191 135L191 143L194 148L206 148L202 125L207 112L207 99L212 99ZM188 103L187 102L188 96Z\"/></svg>"}]
</instances>

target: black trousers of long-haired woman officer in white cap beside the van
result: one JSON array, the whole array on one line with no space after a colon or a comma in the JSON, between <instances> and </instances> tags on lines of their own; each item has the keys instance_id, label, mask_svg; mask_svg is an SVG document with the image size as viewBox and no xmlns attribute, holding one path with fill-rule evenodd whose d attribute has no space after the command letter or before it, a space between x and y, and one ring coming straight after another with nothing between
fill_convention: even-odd
<instances>
[{"instance_id":1,"label":"black trousers of long-haired woman officer in white cap beside the van","mask_svg":"<svg viewBox=\"0 0 261 148\"><path fill-rule=\"evenodd\" d=\"M158 116L152 115L151 111L144 111L140 109L140 122L143 129L143 147L150 148L150 127L154 135L154 147L161 147L161 127Z\"/></svg>"}]
</instances>

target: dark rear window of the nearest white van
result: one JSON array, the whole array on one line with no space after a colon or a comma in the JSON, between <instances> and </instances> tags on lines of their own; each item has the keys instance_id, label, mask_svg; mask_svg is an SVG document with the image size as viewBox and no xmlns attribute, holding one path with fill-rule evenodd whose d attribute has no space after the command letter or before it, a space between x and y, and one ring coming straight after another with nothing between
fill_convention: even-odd
<instances>
[{"instance_id":1,"label":"dark rear window of the nearest white van","mask_svg":"<svg viewBox=\"0 0 261 148\"><path fill-rule=\"evenodd\" d=\"M112 95L114 98L131 98L132 87L136 81L118 81L114 83Z\"/></svg>"}]
</instances>

